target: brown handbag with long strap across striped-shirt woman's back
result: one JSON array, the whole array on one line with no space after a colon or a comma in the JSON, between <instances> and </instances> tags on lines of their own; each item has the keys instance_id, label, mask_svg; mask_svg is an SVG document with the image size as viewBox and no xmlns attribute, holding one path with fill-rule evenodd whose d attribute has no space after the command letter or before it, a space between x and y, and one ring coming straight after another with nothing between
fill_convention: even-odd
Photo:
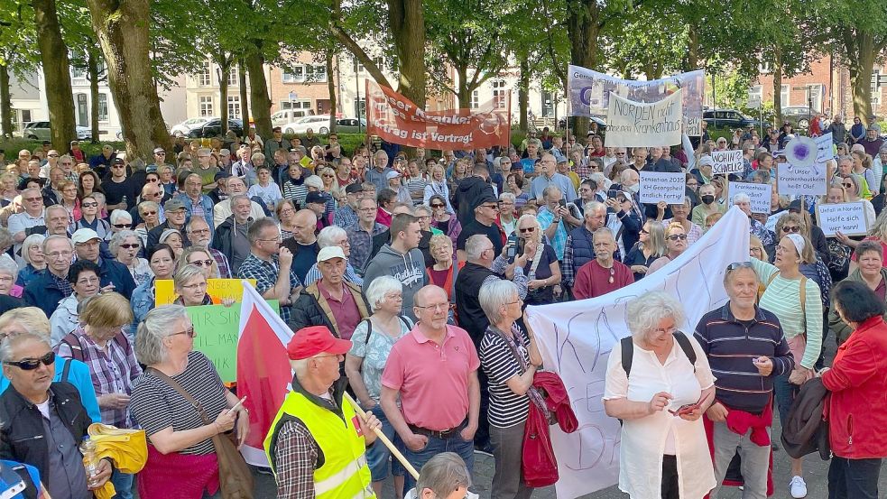
<instances>
[{"instance_id":1,"label":"brown handbag with long strap across striped-shirt woman's back","mask_svg":"<svg viewBox=\"0 0 887 499\"><path fill-rule=\"evenodd\" d=\"M200 402L197 402L190 393L185 392L185 389L176 380L153 367L148 367L145 370L169 384L173 390L188 401L199 412L204 424L212 423ZM227 433L224 437L219 434L212 436L218 459L218 486L222 490L224 499L253 499L253 474L250 472L249 466L246 465L244 457L237 450L235 439L234 431Z\"/></svg>"}]
</instances>

